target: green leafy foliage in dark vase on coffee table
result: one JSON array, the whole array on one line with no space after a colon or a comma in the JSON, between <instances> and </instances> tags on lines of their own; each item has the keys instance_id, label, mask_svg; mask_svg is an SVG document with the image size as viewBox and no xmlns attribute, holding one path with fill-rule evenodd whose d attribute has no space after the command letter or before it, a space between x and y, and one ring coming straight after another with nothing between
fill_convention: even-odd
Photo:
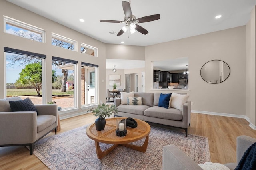
<instances>
[{"instance_id":1,"label":"green leafy foliage in dark vase on coffee table","mask_svg":"<svg viewBox=\"0 0 256 170\"><path fill-rule=\"evenodd\" d=\"M95 114L94 116L103 117L105 119L106 116L110 117L110 115L117 113L117 109L115 105L105 105L104 103L99 104L96 108L90 108L90 110Z\"/></svg>"}]
</instances>

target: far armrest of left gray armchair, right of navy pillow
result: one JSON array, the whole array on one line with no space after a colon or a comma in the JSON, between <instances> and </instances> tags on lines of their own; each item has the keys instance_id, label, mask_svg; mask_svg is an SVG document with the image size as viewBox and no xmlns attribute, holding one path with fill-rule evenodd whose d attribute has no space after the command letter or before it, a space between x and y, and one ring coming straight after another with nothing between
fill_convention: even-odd
<instances>
[{"instance_id":1,"label":"far armrest of left gray armchair, right of navy pillow","mask_svg":"<svg viewBox=\"0 0 256 170\"><path fill-rule=\"evenodd\" d=\"M58 105L35 105L38 115L53 115L56 116L56 120L58 117Z\"/></svg>"}]
</instances>

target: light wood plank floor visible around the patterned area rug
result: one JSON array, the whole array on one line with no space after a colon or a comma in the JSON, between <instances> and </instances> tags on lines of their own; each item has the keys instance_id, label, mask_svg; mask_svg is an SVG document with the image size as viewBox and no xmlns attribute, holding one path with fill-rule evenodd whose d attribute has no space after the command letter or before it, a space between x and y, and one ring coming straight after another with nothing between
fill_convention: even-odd
<instances>
[{"instance_id":1,"label":"light wood plank floor visible around the patterned area rug","mask_svg":"<svg viewBox=\"0 0 256 170\"><path fill-rule=\"evenodd\" d=\"M58 134L92 123L95 119L96 117L89 113L61 120L62 130ZM237 136L247 135L256 138L256 130L252 130L248 124L248 121L241 118L192 113L191 127L188 128L188 134L207 136L211 161L224 164L236 162ZM54 133L47 136L50 135L54 135ZM30 155L29 150L24 146L0 147L0 169L48 170L36 156Z\"/></svg>"}]
</instances>

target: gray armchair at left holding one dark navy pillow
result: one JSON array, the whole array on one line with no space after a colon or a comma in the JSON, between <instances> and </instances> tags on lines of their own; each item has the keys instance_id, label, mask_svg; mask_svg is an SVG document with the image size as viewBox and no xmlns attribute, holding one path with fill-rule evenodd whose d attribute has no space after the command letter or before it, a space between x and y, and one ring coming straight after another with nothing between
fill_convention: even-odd
<instances>
[{"instance_id":1,"label":"gray armchair at left holding one dark navy pillow","mask_svg":"<svg viewBox=\"0 0 256 170\"><path fill-rule=\"evenodd\" d=\"M0 99L0 146L29 146L33 154L34 144L58 125L57 105L35 105L35 111L14 111L9 101L20 97Z\"/></svg>"}]
</instances>

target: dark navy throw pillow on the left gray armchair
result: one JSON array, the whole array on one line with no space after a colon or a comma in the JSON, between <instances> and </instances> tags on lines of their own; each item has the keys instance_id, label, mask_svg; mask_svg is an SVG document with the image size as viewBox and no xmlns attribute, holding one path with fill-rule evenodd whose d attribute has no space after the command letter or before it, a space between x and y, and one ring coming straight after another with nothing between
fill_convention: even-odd
<instances>
[{"instance_id":1,"label":"dark navy throw pillow on the left gray armchair","mask_svg":"<svg viewBox=\"0 0 256 170\"><path fill-rule=\"evenodd\" d=\"M34 103L29 98L26 98L24 100L9 101L9 103L13 112L35 111L38 115L38 112Z\"/></svg>"}]
</instances>

